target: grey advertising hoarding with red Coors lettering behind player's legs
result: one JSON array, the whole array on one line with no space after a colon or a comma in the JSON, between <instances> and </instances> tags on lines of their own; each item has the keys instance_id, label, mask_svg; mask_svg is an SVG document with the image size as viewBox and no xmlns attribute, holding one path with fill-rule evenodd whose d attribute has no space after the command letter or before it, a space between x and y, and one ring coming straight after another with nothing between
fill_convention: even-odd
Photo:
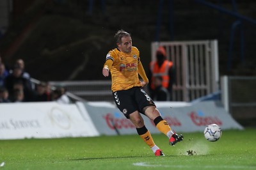
<instances>
[{"instance_id":1,"label":"grey advertising hoarding with red Coors lettering behind player's legs","mask_svg":"<svg viewBox=\"0 0 256 170\"><path fill-rule=\"evenodd\" d=\"M156 102L157 108L164 120L175 132L204 132L206 125L216 123L223 130L237 129L242 130L239 125L225 111L220 102L199 102L197 104L176 104L175 102ZM87 112L90 114L92 121L102 135L115 134L136 134L136 128L131 121L116 107L106 104L90 104L84 103ZM144 122L148 130L152 133L160 133L154 125L143 115ZM96 123L97 122L97 123Z\"/></svg>"}]
</instances>

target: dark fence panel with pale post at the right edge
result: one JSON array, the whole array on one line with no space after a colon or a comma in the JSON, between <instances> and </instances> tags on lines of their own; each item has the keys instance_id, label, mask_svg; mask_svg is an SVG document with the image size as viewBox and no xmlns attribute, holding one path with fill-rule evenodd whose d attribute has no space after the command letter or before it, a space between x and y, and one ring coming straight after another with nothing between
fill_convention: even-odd
<instances>
[{"instance_id":1,"label":"dark fence panel with pale post at the right edge","mask_svg":"<svg viewBox=\"0 0 256 170\"><path fill-rule=\"evenodd\" d=\"M221 100L225 109L239 120L256 119L256 77L221 77ZM255 123L256 125L256 123Z\"/></svg>"}]
</instances>

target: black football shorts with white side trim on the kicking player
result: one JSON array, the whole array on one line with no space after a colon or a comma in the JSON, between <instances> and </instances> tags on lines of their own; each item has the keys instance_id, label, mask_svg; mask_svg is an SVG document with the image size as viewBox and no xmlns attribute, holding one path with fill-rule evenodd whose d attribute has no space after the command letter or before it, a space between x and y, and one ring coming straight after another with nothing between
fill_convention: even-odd
<instances>
[{"instance_id":1,"label":"black football shorts with white side trim on the kicking player","mask_svg":"<svg viewBox=\"0 0 256 170\"><path fill-rule=\"evenodd\" d=\"M115 104L118 109L129 119L129 114L139 111L142 114L143 108L154 105L153 100L140 87L113 92Z\"/></svg>"}]
</instances>

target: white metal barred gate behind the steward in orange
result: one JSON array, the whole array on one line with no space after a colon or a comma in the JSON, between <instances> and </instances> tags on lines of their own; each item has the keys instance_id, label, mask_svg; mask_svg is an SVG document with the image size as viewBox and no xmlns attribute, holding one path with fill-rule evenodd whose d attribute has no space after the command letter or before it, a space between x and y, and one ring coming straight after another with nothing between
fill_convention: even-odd
<instances>
[{"instance_id":1,"label":"white metal barred gate behind the steward in orange","mask_svg":"<svg viewBox=\"0 0 256 170\"><path fill-rule=\"evenodd\" d=\"M175 66L173 101L189 102L219 90L217 40L153 42L152 61L159 45L165 47L167 58Z\"/></svg>"}]
</instances>

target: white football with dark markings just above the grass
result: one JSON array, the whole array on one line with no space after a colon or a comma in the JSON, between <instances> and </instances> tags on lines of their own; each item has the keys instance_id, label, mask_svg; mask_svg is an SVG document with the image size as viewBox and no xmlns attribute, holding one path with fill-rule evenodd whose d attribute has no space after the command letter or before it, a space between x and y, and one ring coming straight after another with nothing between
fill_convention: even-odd
<instances>
[{"instance_id":1,"label":"white football with dark markings just above the grass","mask_svg":"<svg viewBox=\"0 0 256 170\"><path fill-rule=\"evenodd\" d=\"M207 141L215 142L221 137L222 130L216 124L207 125L204 129L204 137Z\"/></svg>"}]
</instances>

